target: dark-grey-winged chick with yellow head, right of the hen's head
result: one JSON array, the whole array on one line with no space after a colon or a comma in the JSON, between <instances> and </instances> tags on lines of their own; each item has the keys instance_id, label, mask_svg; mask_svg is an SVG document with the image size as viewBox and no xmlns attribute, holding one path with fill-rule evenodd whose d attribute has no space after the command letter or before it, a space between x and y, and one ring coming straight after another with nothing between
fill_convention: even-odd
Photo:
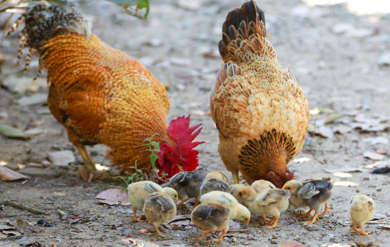
<instances>
[{"instance_id":1,"label":"dark-grey-winged chick with yellow head, right of the hen's head","mask_svg":"<svg viewBox=\"0 0 390 247\"><path fill-rule=\"evenodd\" d=\"M310 216L312 210L316 213L310 221L302 222L314 224L317 221L321 205L326 203L332 196L333 183L326 180L309 180L304 183L291 180L284 184L284 190L291 193L290 204L296 208L310 208L303 216Z\"/></svg>"}]
</instances>

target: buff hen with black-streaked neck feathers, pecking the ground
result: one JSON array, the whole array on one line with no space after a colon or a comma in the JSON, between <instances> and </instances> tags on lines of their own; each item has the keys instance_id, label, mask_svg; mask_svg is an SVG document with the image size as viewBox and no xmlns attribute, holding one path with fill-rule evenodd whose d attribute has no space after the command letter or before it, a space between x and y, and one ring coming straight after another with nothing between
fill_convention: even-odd
<instances>
[{"instance_id":1,"label":"buff hen with black-streaked neck feathers, pecking the ground","mask_svg":"<svg viewBox=\"0 0 390 247\"><path fill-rule=\"evenodd\" d=\"M234 183L266 179L281 188L301 152L308 102L266 36L264 12L247 2L227 15L219 51L224 64L210 93L218 152Z\"/></svg>"}]
</instances>

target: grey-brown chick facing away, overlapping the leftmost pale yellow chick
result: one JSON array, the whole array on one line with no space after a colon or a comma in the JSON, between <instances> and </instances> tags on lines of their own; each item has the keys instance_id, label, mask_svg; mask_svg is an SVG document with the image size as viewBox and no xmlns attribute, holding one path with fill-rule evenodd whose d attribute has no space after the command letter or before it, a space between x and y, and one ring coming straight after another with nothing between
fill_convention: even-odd
<instances>
[{"instance_id":1,"label":"grey-brown chick facing away, overlapping the leftmost pale yellow chick","mask_svg":"<svg viewBox=\"0 0 390 247\"><path fill-rule=\"evenodd\" d=\"M172 220L176 215L176 206L172 198L167 194L153 193L145 200L144 211L146 219L149 220L156 230L158 236L165 237L161 234L158 226Z\"/></svg>"}]
</instances>

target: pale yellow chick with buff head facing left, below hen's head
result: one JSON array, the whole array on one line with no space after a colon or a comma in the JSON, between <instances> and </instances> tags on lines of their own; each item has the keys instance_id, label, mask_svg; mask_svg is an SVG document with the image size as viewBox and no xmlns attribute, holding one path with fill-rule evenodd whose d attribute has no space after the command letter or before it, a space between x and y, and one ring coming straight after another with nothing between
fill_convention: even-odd
<instances>
[{"instance_id":1,"label":"pale yellow chick with buff head facing left, below hen's head","mask_svg":"<svg viewBox=\"0 0 390 247\"><path fill-rule=\"evenodd\" d=\"M280 189L265 189L260 193L252 187L244 187L238 191L237 199L244 199L246 205L256 215L262 215L263 219L266 214L271 215L272 219L268 222L267 228L277 227L280 213L287 210L289 206L290 193Z\"/></svg>"}]
</instances>

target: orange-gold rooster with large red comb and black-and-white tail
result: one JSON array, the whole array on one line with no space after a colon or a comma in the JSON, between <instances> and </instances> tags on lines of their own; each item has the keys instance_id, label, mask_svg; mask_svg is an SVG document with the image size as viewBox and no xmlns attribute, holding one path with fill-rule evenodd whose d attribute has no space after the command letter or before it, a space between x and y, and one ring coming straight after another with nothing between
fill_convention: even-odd
<instances>
[{"instance_id":1,"label":"orange-gold rooster with large red comb and black-and-white tail","mask_svg":"<svg viewBox=\"0 0 390 247\"><path fill-rule=\"evenodd\" d=\"M12 12L11 7L7 10ZM134 172L131 167L136 164L137 169L151 172L145 141L151 137L161 150L156 162L160 176L197 167L199 152L193 148L203 142L193 140L200 124L190 127L190 116L183 116L168 125L165 87L140 62L92 34L73 4L36 3L9 34L23 23L18 62L25 47L29 48L25 70L31 55L39 54L39 73L47 71L50 112L66 128L90 178L96 167L85 145L107 145L108 158L122 170Z\"/></svg>"}]
</instances>

